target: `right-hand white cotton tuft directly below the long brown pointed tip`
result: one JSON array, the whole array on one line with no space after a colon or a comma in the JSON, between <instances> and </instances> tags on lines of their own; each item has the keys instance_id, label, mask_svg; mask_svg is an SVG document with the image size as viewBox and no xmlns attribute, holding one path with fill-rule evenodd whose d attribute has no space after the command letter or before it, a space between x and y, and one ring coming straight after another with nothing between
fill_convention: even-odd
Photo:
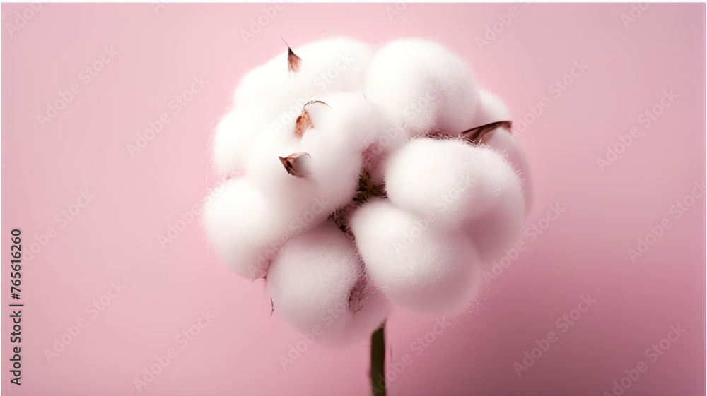
<instances>
[{"instance_id":1,"label":"right-hand white cotton tuft directly below the long brown pointed tip","mask_svg":"<svg viewBox=\"0 0 707 396\"><path fill-rule=\"evenodd\" d=\"M504 132L505 133L505 132ZM386 164L391 202L467 234L483 260L513 244L524 224L518 174L496 150L459 140L413 140Z\"/></svg>"}]
</instances>

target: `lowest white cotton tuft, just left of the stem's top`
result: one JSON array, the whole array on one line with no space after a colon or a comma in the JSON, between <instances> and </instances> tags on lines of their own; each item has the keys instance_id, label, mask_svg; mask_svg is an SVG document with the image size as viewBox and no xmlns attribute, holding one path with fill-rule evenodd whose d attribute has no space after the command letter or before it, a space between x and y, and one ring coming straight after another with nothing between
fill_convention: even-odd
<instances>
[{"instance_id":1,"label":"lowest white cotton tuft, just left of the stem's top","mask_svg":"<svg viewBox=\"0 0 707 396\"><path fill-rule=\"evenodd\" d=\"M352 289L365 281L363 271L354 243L334 222L296 236L268 272L274 314L326 342L346 342L362 332L370 335L387 308L374 294L359 298L357 293L352 299Z\"/></svg>"}]
</instances>

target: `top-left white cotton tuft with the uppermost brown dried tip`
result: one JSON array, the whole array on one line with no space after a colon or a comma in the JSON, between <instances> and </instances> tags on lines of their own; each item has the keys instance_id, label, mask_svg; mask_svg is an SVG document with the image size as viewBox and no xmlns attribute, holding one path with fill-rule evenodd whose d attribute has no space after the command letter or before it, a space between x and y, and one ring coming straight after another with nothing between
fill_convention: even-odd
<instances>
[{"instance_id":1,"label":"top-left white cotton tuft with the uppermost brown dried tip","mask_svg":"<svg viewBox=\"0 0 707 396\"><path fill-rule=\"evenodd\" d=\"M329 92L361 90L370 61L367 44L331 37L293 46L302 59L297 72L288 71L288 51L285 44L283 47L274 59L243 77L235 92L237 105L262 107L274 124L287 124L310 100L320 100Z\"/></svg>"}]
</instances>

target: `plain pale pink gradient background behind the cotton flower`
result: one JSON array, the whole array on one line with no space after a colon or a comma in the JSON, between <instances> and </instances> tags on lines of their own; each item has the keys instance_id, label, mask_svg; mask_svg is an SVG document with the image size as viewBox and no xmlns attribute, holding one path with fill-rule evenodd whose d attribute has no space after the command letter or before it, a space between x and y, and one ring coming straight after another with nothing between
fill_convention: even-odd
<instances>
[{"instance_id":1,"label":"plain pale pink gradient background behind the cotton flower","mask_svg":"<svg viewBox=\"0 0 707 396\"><path fill-rule=\"evenodd\" d=\"M412 364L390 395L600 395L677 324L685 334L626 395L704 394L704 197L679 220L669 212L705 179L704 4L650 4L629 28L629 4L411 3L399 15L387 4L286 4L246 44L241 30L271 6L45 4L13 37L6 24L27 5L2 6L3 395L135 395L133 379L170 347L177 358L141 394L368 394L366 344L315 342L283 370L279 355L300 337L270 317L264 284L231 274L196 221L166 248L158 241L216 182L209 136L243 73L281 51L281 36L297 46L339 34L377 45L437 40L515 121L543 97L551 103L518 137L534 174L528 221L549 204L565 212L421 354L411 343L435 321L395 308L388 360L409 354ZM479 49L476 37L511 6L520 15ZM78 73L104 46L119 54L84 85ZM589 68L555 97L550 85L581 60ZM209 83L131 158L126 145L172 114L194 76ZM81 93L40 128L37 114L73 83ZM643 128L638 116L663 90L679 97ZM600 171L597 156L632 126L640 138ZM54 217L86 188L95 198L59 228ZM627 249L663 217L672 227L631 263ZM14 227L25 247L57 229L23 266L21 387L8 372ZM90 318L86 306L118 280L127 289ZM582 294L597 303L519 378L514 362L558 332ZM206 310L216 318L181 349L175 337ZM80 318L88 327L47 361L45 348Z\"/></svg>"}]
</instances>

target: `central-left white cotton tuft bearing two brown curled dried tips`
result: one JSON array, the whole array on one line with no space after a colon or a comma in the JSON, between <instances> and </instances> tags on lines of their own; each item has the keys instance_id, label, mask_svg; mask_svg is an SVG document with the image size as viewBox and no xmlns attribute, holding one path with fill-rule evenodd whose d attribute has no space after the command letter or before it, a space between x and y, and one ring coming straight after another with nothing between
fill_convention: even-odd
<instances>
[{"instance_id":1,"label":"central-left white cotton tuft bearing two brown curled dried tips","mask_svg":"<svg viewBox=\"0 0 707 396\"><path fill-rule=\"evenodd\" d=\"M307 107L313 128L303 136L294 135L295 122L284 130L274 128L256 136L246 157L247 174L255 184L277 196L290 220L313 227L334 210L351 202L358 188L363 150L370 145L380 125L374 104L358 94L332 94L326 103ZM289 174L279 157L303 155L301 171L306 176Z\"/></svg>"}]
</instances>

